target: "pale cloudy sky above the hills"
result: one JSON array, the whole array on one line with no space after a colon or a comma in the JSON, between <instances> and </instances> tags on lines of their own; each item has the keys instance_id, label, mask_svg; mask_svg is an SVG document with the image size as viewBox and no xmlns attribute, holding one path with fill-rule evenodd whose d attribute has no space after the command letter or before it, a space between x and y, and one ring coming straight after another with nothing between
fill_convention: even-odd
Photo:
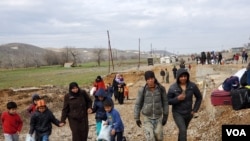
<instances>
[{"instance_id":1,"label":"pale cloudy sky above the hills","mask_svg":"<svg viewBox=\"0 0 250 141\"><path fill-rule=\"evenodd\" d=\"M121 50L189 54L250 42L249 0L1 0L0 7L0 44L108 48L110 39Z\"/></svg>"}]
</instances>

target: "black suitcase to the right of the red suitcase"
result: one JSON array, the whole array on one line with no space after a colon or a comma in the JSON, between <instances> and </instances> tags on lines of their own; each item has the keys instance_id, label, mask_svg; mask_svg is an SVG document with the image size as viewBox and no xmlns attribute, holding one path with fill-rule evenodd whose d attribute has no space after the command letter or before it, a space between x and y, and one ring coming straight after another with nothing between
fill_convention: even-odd
<instances>
[{"instance_id":1,"label":"black suitcase to the right of the red suitcase","mask_svg":"<svg viewBox=\"0 0 250 141\"><path fill-rule=\"evenodd\" d=\"M242 87L232 90L231 96L234 110L250 108L250 89Z\"/></svg>"}]
</instances>

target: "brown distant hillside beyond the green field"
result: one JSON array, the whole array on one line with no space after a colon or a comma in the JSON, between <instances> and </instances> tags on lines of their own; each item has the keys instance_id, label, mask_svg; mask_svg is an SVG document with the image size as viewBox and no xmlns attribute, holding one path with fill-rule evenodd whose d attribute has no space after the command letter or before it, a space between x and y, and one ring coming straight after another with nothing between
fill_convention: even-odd
<instances>
[{"instance_id":1,"label":"brown distant hillside beyond the green field","mask_svg":"<svg viewBox=\"0 0 250 141\"><path fill-rule=\"evenodd\" d=\"M24 43L0 45L0 68L39 67L43 65L73 62L72 52L77 63L96 61L101 51L101 60L108 60L109 52L105 48L40 48ZM112 49L114 60L137 59L138 51ZM66 57L67 56L67 57ZM148 52L141 52L140 57L147 58Z\"/></svg>"}]
</instances>

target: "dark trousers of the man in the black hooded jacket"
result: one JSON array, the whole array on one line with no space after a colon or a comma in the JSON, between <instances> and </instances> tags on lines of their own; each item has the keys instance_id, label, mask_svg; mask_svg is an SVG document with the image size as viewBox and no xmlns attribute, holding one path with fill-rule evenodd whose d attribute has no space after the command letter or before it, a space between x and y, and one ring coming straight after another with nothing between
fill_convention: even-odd
<instances>
[{"instance_id":1,"label":"dark trousers of the man in the black hooded jacket","mask_svg":"<svg viewBox=\"0 0 250 141\"><path fill-rule=\"evenodd\" d=\"M178 141L187 141L187 129L193 115L191 113L182 115L173 112L173 118L179 129Z\"/></svg>"}]
</instances>

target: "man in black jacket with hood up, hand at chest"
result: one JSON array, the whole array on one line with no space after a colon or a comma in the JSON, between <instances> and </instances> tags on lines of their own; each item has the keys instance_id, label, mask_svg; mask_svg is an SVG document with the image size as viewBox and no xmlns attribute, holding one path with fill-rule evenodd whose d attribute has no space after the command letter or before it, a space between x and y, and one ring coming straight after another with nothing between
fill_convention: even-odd
<instances>
[{"instance_id":1,"label":"man in black jacket with hood up, hand at chest","mask_svg":"<svg viewBox=\"0 0 250 141\"><path fill-rule=\"evenodd\" d=\"M180 68L176 73L176 82L168 90L168 103L172 105L174 121L179 128L178 141L187 140L189 122L201 105L202 95L195 83L189 80L186 69ZM193 106L193 96L196 100Z\"/></svg>"}]
</instances>

